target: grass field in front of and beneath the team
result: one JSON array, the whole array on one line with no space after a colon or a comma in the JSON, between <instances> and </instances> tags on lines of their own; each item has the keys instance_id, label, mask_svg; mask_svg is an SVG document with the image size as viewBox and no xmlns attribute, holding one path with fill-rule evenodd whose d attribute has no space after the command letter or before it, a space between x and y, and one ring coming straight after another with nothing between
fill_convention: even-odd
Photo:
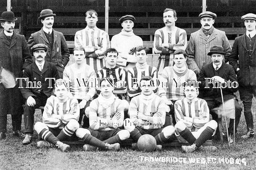
<instances>
[{"instance_id":1,"label":"grass field in front of and beneath the team","mask_svg":"<svg viewBox=\"0 0 256 170\"><path fill-rule=\"evenodd\" d=\"M255 111L254 101L253 112L255 113ZM36 121L41 120L40 115L41 112L37 110ZM37 134L34 133L33 142L30 145L22 145L23 138L12 137L11 135L10 120L11 117L8 116L8 137L5 140L0 140L0 170L256 170L256 139L250 138L244 141L240 138L246 132L244 115L242 115L239 123L235 147L229 148L225 138L223 143L213 140L213 144L218 148L217 152L198 150L191 154L183 153L180 148L168 148L153 153L134 151L130 148L122 148L119 152L85 152L82 151L82 145L74 145L71 151L66 153L55 148L37 149L35 142ZM225 129L224 125L223 120L223 129ZM152 161L155 157L162 158L160 161ZM186 160L185 163L181 158ZM193 160L193 158L195 158L195 163L188 163L188 159ZM199 158L198 163L196 163L196 158ZM216 163L209 158L215 158ZM233 158L237 161L239 160L237 158L245 158L246 165L245 163L241 163L241 165L230 164L230 162L228 164L223 163L222 161L225 159L222 158ZM243 162L245 162L244 159Z\"/></svg>"}]
</instances>

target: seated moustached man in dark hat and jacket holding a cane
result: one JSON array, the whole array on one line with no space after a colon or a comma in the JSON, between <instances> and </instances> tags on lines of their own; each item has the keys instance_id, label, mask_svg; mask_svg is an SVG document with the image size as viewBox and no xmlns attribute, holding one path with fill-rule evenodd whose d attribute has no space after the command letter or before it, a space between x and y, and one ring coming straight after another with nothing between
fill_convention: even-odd
<instances>
[{"instance_id":1,"label":"seated moustached man in dark hat and jacket holding a cane","mask_svg":"<svg viewBox=\"0 0 256 170\"><path fill-rule=\"evenodd\" d=\"M199 84L199 98L203 98L206 100L209 110L218 107L220 104L222 104L221 92L220 88L217 88L217 84L224 85L228 81L230 81L231 83L236 82L237 84L237 78L234 69L232 68L231 65L223 62L225 54L226 53L224 52L223 47L212 46L210 52L207 53L207 55L211 56L212 63L204 66L201 69L198 77L198 81L201 82L201 84ZM206 78L211 78L213 83L207 83ZM216 87L214 87L214 84ZM207 88L207 86L209 88ZM221 89L224 101L232 99L234 97L236 98L234 93L238 90L238 87L233 86L232 88L230 88L229 86L227 86L226 88ZM237 131L237 127L241 117L241 112L242 108L238 103L238 100L235 100L235 132ZM213 120L218 120L218 115L216 113L210 114L212 115ZM234 120L230 119L228 130L230 134L230 143L233 143L233 122Z\"/></svg>"}]
</instances>

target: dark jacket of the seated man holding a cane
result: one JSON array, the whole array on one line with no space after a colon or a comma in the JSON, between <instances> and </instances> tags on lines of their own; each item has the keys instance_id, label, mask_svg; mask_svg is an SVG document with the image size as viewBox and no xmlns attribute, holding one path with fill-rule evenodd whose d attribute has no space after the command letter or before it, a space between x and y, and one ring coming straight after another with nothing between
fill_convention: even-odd
<instances>
[{"instance_id":1,"label":"dark jacket of the seated man holding a cane","mask_svg":"<svg viewBox=\"0 0 256 170\"><path fill-rule=\"evenodd\" d=\"M205 78L211 78L215 76L214 72L215 72L215 69L212 63L207 64L201 69L198 80L197 80L201 82L199 83L199 97L205 100L216 99L219 102L221 102L220 89L213 88L213 84L210 84L210 83L207 84L205 79ZM232 66L229 64L222 63L221 67L219 68L219 76L225 79L225 82L228 82L229 80L230 82L234 82L234 81L237 82L235 71L232 68ZM207 85L209 86L209 88L205 88ZM234 98L235 95L233 93L235 93L237 90L238 90L238 87L229 88L227 86L226 88L222 88L222 94L223 94L224 100Z\"/></svg>"}]
</instances>

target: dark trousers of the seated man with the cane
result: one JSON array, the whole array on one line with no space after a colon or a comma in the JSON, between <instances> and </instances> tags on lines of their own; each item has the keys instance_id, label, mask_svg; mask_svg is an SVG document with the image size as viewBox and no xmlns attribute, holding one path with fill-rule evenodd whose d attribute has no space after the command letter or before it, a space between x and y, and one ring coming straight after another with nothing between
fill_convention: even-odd
<instances>
[{"instance_id":1,"label":"dark trousers of the seated man with the cane","mask_svg":"<svg viewBox=\"0 0 256 170\"><path fill-rule=\"evenodd\" d=\"M209 110L211 110L215 107L219 107L219 105L221 104L217 100L208 100L206 102L207 102L207 105L209 107ZM241 112L242 112L242 107L240 106L238 101L235 100L235 133L237 132L237 127L238 127L238 124L239 124L239 121L240 121ZM212 119L218 122L218 115L213 111L210 111L210 114L212 116ZM228 128L228 131L229 131L230 134L233 133L233 128L234 128L234 119L231 118L230 122L229 122L229 128Z\"/></svg>"}]
</instances>

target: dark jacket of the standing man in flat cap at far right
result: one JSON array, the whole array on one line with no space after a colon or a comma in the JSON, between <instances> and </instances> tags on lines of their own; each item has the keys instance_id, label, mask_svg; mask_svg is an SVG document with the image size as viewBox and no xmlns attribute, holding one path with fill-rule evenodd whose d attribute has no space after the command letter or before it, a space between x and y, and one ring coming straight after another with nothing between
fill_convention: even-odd
<instances>
[{"instance_id":1,"label":"dark jacket of the standing man in flat cap at far right","mask_svg":"<svg viewBox=\"0 0 256 170\"><path fill-rule=\"evenodd\" d=\"M229 56L229 64L233 66L235 71L240 68L238 72L236 71L239 86L256 86L256 42L254 42L252 54L249 56L245 37L246 34L235 38Z\"/></svg>"}]
</instances>

